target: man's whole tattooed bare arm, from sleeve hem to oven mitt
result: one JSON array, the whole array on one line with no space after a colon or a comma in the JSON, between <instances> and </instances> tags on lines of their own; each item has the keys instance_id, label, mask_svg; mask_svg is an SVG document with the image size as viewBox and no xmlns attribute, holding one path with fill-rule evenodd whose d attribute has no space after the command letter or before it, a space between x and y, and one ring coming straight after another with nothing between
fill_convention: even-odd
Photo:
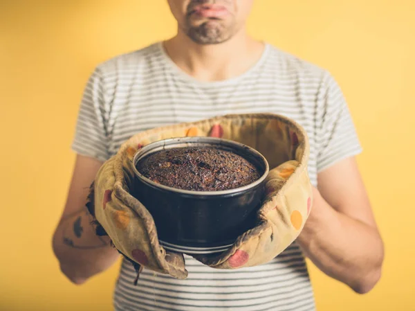
<instances>
[{"instance_id":1,"label":"man's whole tattooed bare arm, from sleeve hem to oven mitt","mask_svg":"<svg viewBox=\"0 0 415 311\"><path fill-rule=\"evenodd\" d=\"M62 272L75 284L108 269L119 258L108 237L95 235L86 197L102 162L77 156L68 199L55 234L53 251Z\"/></svg>"}]
</instances>

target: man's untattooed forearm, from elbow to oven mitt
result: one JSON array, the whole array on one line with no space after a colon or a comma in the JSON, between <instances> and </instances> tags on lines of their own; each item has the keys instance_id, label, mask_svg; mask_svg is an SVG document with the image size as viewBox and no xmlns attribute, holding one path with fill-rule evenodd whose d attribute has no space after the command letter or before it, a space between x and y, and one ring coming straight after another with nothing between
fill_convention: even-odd
<instances>
[{"instance_id":1,"label":"man's untattooed forearm, from elbow to oven mitt","mask_svg":"<svg viewBox=\"0 0 415 311\"><path fill-rule=\"evenodd\" d=\"M335 211L318 192L297 242L322 272L356 292L368 292L380 278L383 245L378 231Z\"/></svg>"}]
</instances>

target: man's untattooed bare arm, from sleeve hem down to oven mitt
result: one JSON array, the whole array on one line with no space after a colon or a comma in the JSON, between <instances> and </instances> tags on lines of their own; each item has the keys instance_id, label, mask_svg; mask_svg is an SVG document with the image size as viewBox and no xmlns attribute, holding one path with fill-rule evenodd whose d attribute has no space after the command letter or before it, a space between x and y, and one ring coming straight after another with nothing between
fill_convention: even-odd
<instances>
[{"instance_id":1,"label":"man's untattooed bare arm, from sleeve hem down to oven mitt","mask_svg":"<svg viewBox=\"0 0 415 311\"><path fill-rule=\"evenodd\" d=\"M325 274L355 292L378 282L383 243L354 157L318 174L313 208L297 242Z\"/></svg>"}]
</instances>

